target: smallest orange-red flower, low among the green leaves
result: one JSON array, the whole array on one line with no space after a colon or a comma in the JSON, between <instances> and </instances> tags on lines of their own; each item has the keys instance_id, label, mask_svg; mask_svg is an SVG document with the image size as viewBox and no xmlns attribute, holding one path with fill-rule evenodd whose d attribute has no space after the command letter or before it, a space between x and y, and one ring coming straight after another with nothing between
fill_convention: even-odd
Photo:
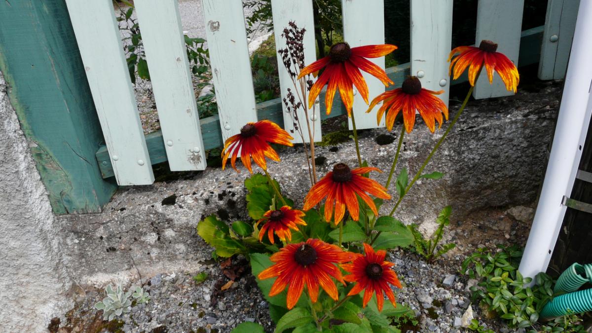
<instances>
[{"instance_id":1,"label":"smallest orange-red flower, low among the green leaves","mask_svg":"<svg viewBox=\"0 0 592 333\"><path fill-rule=\"evenodd\" d=\"M274 244L274 232L282 242L285 242L286 238L291 241L292 232L290 232L290 229L298 231L297 225L306 225L306 222L301 219L303 216L304 213L301 210L291 209L289 206L268 210L263 214L263 218L257 222L266 221L259 231L259 242L263 240L266 231L271 244Z\"/></svg>"}]
</instances>

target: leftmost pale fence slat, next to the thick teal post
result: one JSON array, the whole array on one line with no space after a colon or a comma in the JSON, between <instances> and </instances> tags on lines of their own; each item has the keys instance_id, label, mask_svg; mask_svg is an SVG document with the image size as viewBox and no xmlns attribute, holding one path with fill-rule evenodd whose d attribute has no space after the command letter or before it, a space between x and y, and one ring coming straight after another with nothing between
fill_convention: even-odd
<instances>
[{"instance_id":1,"label":"leftmost pale fence slat, next to the thick teal post","mask_svg":"<svg viewBox=\"0 0 592 333\"><path fill-rule=\"evenodd\" d=\"M154 182L111 1L66 1L117 184Z\"/></svg>"}]
</instances>

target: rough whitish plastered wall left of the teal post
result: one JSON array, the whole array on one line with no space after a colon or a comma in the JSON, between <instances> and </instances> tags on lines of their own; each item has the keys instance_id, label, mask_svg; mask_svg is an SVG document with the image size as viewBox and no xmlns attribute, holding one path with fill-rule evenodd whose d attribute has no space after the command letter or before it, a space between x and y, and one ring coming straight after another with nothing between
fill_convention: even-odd
<instances>
[{"instance_id":1,"label":"rough whitish plastered wall left of the teal post","mask_svg":"<svg viewBox=\"0 0 592 333\"><path fill-rule=\"evenodd\" d=\"M52 207L0 73L0 331L46 332L68 306Z\"/></svg>"}]
</instances>

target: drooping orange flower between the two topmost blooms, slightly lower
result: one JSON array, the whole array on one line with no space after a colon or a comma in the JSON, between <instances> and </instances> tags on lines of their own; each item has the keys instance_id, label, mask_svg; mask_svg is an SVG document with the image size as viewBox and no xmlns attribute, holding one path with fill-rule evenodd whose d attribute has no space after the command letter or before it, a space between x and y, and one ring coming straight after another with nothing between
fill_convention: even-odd
<instances>
[{"instance_id":1,"label":"drooping orange flower between the two topmost blooms, slightly lower","mask_svg":"<svg viewBox=\"0 0 592 333\"><path fill-rule=\"evenodd\" d=\"M395 123L395 118L399 111L403 110L403 122L407 133L411 133L413 124L415 123L415 110L419 111L423 121L425 121L430 132L434 133L436 129L436 120L438 121L438 129L442 126L442 113L448 120L448 108L440 98L434 95L439 95L444 92L431 91L422 88L422 82L417 76L410 76L405 81L401 88L385 91L378 95L368 108L366 113L372 111L378 103L384 101L382 106L378 109L376 115L377 123L380 123L384 111L387 110L387 129L392 130L392 125Z\"/></svg>"}]
</instances>

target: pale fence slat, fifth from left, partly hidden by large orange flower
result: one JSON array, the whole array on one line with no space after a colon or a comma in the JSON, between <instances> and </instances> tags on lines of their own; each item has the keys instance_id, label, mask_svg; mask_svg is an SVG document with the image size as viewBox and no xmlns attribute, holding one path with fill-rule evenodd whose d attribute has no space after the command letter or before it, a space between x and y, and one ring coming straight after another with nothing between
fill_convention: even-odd
<instances>
[{"instance_id":1,"label":"pale fence slat, fifth from left, partly hidden by large orange flower","mask_svg":"<svg viewBox=\"0 0 592 333\"><path fill-rule=\"evenodd\" d=\"M382 0L342 0L343 38L349 46L356 47L371 44L384 44L384 2ZM397 52L397 51L395 51ZM368 59L384 68L384 57ZM368 100L384 92L384 84L374 76L363 72L363 78L368 84ZM353 112L356 117L357 129L374 129L384 127L384 118L377 125L376 113L366 113L368 105L354 87ZM382 105L378 104L378 105ZM379 106L377 106L378 108ZM375 108L375 110L377 110ZM349 120L352 128L352 120Z\"/></svg>"}]
</instances>

